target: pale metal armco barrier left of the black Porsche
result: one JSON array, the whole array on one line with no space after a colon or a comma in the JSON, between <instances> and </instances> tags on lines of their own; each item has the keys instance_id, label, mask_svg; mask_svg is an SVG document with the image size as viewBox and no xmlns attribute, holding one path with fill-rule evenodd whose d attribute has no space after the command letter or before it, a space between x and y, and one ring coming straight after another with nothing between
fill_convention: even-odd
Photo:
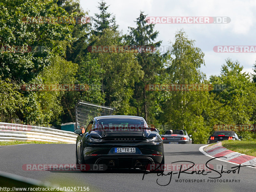
<instances>
[{"instance_id":1,"label":"pale metal armco barrier left of the black Porsche","mask_svg":"<svg viewBox=\"0 0 256 192\"><path fill-rule=\"evenodd\" d=\"M76 143L76 137L77 135L70 131L0 122L0 141L46 141Z\"/></svg>"}]
</instances>

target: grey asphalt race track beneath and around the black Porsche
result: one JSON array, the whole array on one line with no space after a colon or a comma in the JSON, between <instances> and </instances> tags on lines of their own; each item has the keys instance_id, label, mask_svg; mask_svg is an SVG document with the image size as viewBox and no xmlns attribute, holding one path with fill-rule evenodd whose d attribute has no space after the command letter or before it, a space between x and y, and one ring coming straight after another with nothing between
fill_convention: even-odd
<instances>
[{"instance_id":1,"label":"grey asphalt race track beneath and around the black Porsche","mask_svg":"<svg viewBox=\"0 0 256 192\"><path fill-rule=\"evenodd\" d=\"M203 145L199 144L164 144L165 164L173 164L175 161L191 161L195 164L204 166L211 158L205 156L199 151ZM94 191L255 191L256 189L256 169L251 167L240 167L239 173L222 173L221 178L210 179L209 177L219 177L220 174L212 171L212 173L204 174L188 174L180 173L174 170L170 181L171 170L164 172L164 176L157 176L156 173L146 174L142 180L143 173L137 170L110 170L107 172L90 172L82 173L80 171L24 171L24 164L74 164L75 163L75 144L22 144L0 146L0 171L33 178L40 181L48 181L53 185L73 186L73 187L89 187L91 192ZM177 163L176 163L177 164ZM191 164L188 162L180 162L179 164ZM234 164L226 163L216 159L211 160L213 168L220 172L221 165L223 170L234 170L231 168ZM183 168L185 165L182 165ZM209 165L210 166L210 165ZM195 165L196 167L196 165ZM204 168L204 167L203 167ZM238 168L238 167L237 167ZM177 168L176 168L177 169ZM195 168L196 170L196 168ZM208 170L209 171L209 170ZM198 171L197 171L198 172ZM202 170L201 170L202 172ZM169 173L169 175L167 175ZM174 174L175 173L175 174ZM157 180L158 179L158 180ZM184 180L184 181L183 181ZM189 182L190 180L190 182ZM196 180L196 182L191 182ZM207 182L207 180L209 180ZM211 182L212 180L212 182ZM218 180L218 181L217 181ZM220 182L222 180L222 182ZM223 182L231 181L231 182ZM233 180L233 182L232 182ZM237 182L235 182L235 180ZM238 182L240 180L240 182ZM169 183L170 181L170 183ZM187 181L187 182L186 182ZM202 181L202 182L201 182ZM204 182L203 182L204 181ZM157 184L157 182L161 185ZM1 184L4 186L4 184Z\"/></svg>"}]
</instances>

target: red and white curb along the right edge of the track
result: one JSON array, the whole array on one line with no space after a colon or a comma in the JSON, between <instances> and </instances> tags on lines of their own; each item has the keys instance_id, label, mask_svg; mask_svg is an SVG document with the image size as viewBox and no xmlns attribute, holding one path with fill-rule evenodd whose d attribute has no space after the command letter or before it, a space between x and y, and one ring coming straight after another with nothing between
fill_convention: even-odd
<instances>
[{"instance_id":1,"label":"red and white curb along the right edge of the track","mask_svg":"<svg viewBox=\"0 0 256 192\"><path fill-rule=\"evenodd\" d=\"M206 146L208 145L200 147L199 150L204 154L209 154L208 156L220 157L216 159L227 161L229 163L256 167L256 157L228 150L227 148L222 147L221 142L216 143L210 147Z\"/></svg>"}]
</instances>

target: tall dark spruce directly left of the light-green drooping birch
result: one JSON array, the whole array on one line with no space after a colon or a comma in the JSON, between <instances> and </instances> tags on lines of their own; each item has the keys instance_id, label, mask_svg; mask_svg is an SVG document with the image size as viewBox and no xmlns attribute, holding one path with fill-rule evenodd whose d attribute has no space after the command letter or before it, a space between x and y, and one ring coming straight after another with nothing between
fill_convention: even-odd
<instances>
[{"instance_id":1,"label":"tall dark spruce directly left of the light-green drooping birch","mask_svg":"<svg viewBox=\"0 0 256 192\"><path fill-rule=\"evenodd\" d=\"M126 43L131 46L152 46L157 48L162 41L155 42L158 31L154 31L154 24L148 24L146 20L147 15L140 12L140 17L136 19L137 27L128 27L130 29L129 35L125 35ZM144 72L143 79L134 85L134 95L132 104L136 107L137 115L144 116L148 123L153 123L155 119L154 113L148 114L149 106L155 106L156 98L152 95L154 93L147 92L145 85L155 83L158 81L158 76L162 72L164 65L162 63L163 57L159 52L141 51L136 54L137 61ZM154 107L153 107L154 108ZM154 110L153 110L154 111Z\"/></svg>"}]
</instances>

